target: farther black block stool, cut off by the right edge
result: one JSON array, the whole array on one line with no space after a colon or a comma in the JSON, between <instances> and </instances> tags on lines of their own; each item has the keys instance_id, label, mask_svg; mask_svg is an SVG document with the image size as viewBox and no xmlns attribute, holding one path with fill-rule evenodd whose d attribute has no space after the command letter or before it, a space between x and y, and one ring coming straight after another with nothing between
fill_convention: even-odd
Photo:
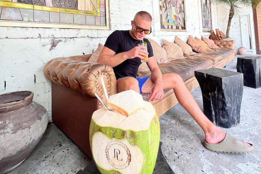
<instances>
[{"instance_id":1,"label":"farther black block stool, cut off by the right edge","mask_svg":"<svg viewBox=\"0 0 261 174\"><path fill-rule=\"evenodd\" d=\"M243 56L237 57L236 71L243 73L244 86L259 88L261 57L260 56Z\"/></svg>"}]
</instances>

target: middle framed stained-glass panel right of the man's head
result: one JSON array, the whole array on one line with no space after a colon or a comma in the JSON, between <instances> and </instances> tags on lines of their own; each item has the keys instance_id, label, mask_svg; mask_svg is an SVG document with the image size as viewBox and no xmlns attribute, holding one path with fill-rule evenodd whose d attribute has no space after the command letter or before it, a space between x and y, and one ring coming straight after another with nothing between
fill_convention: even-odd
<instances>
[{"instance_id":1,"label":"middle framed stained-glass panel right of the man's head","mask_svg":"<svg viewBox=\"0 0 261 174\"><path fill-rule=\"evenodd\" d=\"M186 31L184 0L159 0L162 31Z\"/></svg>"}]
</instances>

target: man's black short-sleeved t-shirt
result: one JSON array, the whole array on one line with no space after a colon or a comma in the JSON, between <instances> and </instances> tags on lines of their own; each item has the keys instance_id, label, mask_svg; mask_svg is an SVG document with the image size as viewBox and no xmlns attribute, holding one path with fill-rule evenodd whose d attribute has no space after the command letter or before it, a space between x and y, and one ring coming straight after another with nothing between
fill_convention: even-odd
<instances>
[{"instance_id":1,"label":"man's black short-sleeved t-shirt","mask_svg":"<svg viewBox=\"0 0 261 174\"><path fill-rule=\"evenodd\" d=\"M150 42L148 41L148 39L145 38L143 40L147 42L147 50L149 53L148 57L152 57L153 50ZM128 30L126 31L116 30L109 35L104 46L114 51L115 54L118 54L118 53L130 51L132 48L138 46L139 43L142 43L142 41L134 39L130 35L130 32ZM113 67L116 79L122 77L136 77L140 64L141 64L140 58L135 57L133 59L127 59L121 64Z\"/></svg>"}]
</instances>

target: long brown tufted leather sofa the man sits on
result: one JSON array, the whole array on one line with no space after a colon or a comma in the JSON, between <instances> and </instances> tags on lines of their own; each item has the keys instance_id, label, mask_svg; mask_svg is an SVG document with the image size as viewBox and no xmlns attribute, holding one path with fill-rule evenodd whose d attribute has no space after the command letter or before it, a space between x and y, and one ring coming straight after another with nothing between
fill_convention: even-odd
<instances>
[{"instance_id":1,"label":"long brown tufted leather sofa the man sits on","mask_svg":"<svg viewBox=\"0 0 261 174\"><path fill-rule=\"evenodd\" d=\"M215 41L215 43L220 49L197 56L184 55L186 59L159 64L162 74L179 74L187 89L193 91L199 86L194 77L195 70L222 68L235 57L234 41ZM117 82L112 67L107 64L88 62L90 56L91 54L54 58L45 65L44 74L51 80L53 122L92 158L89 125L92 113L102 107L94 92L102 99L105 98L101 77L104 79L109 96L116 94ZM150 72L138 72L137 76L150 76ZM143 99L148 101L148 95L142 93ZM151 101L151 103L160 117L178 101L173 89L167 89L164 90L162 100Z\"/></svg>"}]
</instances>

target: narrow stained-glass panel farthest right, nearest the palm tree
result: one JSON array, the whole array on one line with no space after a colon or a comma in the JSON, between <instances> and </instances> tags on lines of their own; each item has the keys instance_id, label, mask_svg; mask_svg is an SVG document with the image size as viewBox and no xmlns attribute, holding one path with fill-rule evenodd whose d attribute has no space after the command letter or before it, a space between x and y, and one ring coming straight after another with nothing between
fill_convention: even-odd
<instances>
[{"instance_id":1,"label":"narrow stained-glass panel farthest right, nearest the palm tree","mask_svg":"<svg viewBox=\"0 0 261 174\"><path fill-rule=\"evenodd\" d=\"M210 0L201 0L203 32L211 30Z\"/></svg>"}]
</instances>

